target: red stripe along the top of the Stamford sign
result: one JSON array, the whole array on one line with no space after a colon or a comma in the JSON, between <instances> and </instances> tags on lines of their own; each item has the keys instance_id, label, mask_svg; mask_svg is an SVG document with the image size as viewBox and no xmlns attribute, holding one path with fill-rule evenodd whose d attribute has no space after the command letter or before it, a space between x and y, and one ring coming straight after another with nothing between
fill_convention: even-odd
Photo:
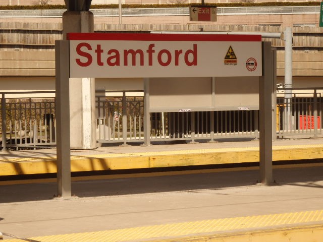
<instances>
[{"instance_id":1,"label":"red stripe along the top of the Stamford sign","mask_svg":"<svg viewBox=\"0 0 323 242\"><path fill-rule=\"evenodd\" d=\"M68 40L139 40L139 41L261 41L261 35L68 33L67 39Z\"/></svg>"}]
</instances>

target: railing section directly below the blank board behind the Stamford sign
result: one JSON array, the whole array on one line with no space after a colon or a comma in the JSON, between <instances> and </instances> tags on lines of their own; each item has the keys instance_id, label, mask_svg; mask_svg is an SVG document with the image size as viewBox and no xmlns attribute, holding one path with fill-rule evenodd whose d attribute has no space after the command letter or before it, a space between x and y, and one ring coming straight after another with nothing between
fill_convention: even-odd
<instances>
[{"instance_id":1,"label":"railing section directly below the blank board behind the Stamford sign","mask_svg":"<svg viewBox=\"0 0 323 242\"><path fill-rule=\"evenodd\" d=\"M258 110L150 113L150 140L258 137Z\"/></svg>"}]
</instances>

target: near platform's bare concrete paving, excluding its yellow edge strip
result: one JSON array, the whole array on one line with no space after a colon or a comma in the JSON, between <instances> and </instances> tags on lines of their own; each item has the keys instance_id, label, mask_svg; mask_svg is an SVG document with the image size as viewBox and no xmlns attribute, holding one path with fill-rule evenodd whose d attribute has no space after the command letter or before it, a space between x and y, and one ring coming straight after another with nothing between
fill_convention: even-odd
<instances>
[{"instance_id":1,"label":"near platform's bare concrete paving, excluding its yellow edge strip","mask_svg":"<svg viewBox=\"0 0 323 242\"><path fill-rule=\"evenodd\" d=\"M258 173L76 181L72 188L78 198L72 200L52 199L55 183L3 185L0 231L4 238L28 238L323 209L321 163L275 169L277 186L255 184ZM322 221L306 224L317 222Z\"/></svg>"}]
</instances>

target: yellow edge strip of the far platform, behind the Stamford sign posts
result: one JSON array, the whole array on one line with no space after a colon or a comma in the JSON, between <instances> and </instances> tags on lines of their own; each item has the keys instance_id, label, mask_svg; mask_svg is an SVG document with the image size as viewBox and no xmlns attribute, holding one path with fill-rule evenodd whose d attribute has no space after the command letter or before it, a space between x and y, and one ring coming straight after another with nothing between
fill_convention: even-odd
<instances>
[{"instance_id":1,"label":"yellow edge strip of the far platform, behind the Stamford sign posts","mask_svg":"<svg viewBox=\"0 0 323 242\"><path fill-rule=\"evenodd\" d=\"M273 147L273 160L317 159L323 157L323 145ZM24 161L21 161L24 160ZM187 165L210 165L259 161L259 148L225 148L71 156L71 171L138 169ZM0 162L0 175L56 173L55 158L23 158Z\"/></svg>"}]
</instances>

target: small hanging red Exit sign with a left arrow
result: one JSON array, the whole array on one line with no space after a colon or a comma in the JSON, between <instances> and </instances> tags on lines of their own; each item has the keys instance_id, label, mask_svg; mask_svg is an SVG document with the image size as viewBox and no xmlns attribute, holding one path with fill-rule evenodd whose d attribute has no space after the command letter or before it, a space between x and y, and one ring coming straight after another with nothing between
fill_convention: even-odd
<instances>
[{"instance_id":1,"label":"small hanging red Exit sign with a left arrow","mask_svg":"<svg viewBox=\"0 0 323 242\"><path fill-rule=\"evenodd\" d=\"M216 6L191 6L190 21L217 21Z\"/></svg>"}]
</instances>

